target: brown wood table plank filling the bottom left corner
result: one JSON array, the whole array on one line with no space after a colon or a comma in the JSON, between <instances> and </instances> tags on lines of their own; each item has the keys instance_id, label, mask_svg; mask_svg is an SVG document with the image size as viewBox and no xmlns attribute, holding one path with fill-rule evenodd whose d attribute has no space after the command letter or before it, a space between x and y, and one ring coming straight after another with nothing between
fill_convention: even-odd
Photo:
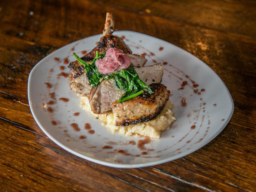
<instances>
[{"instance_id":1,"label":"brown wood table plank filling the bottom left corner","mask_svg":"<svg viewBox=\"0 0 256 192\"><path fill-rule=\"evenodd\" d=\"M0 123L0 141L4 146L0 151L0 177L4 190L164 190L117 169L75 157L46 137L15 128L3 120Z\"/></svg>"}]
</instances>

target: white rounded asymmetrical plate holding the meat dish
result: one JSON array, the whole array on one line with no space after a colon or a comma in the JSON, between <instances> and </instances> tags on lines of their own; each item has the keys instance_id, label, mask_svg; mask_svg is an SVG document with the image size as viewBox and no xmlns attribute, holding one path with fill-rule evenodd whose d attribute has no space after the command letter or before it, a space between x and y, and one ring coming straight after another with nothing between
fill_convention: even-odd
<instances>
[{"instance_id":1,"label":"white rounded asymmetrical plate holding the meat dish","mask_svg":"<svg viewBox=\"0 0 256 192\"><path fill-rule=\"evenodd\" d=\"M133 53L146 53L147 65L155 62L168 63L164 63L162 83L172 92L170 100L175 105L176 122L170 130L161 134L160 139L145 144L146 148L153 150L143 150L147 154L142 155L143 151L137 144L138 140L144 138L112 134L101 126L99 120L80 108L79 97L70 90L68 78L59 76L57 80L57 75L61 72L69 74L69 69L64 64L65 58L71 62L75 60L72 52L82 56L83 50L90 51L99 41L99 34L54 51L38 62L30 72L30 109L38 126L52 141L68 152L98 164L138 168L186 156L206 145L224 129L233 114L234 104L225 84L204 62L181 48L152 36L131 31L117 31L114 34L124 36L124 41ZM160 50L160 47L163 49ZM60 66L65 67L63 71ZM184 89L178 90L184 81L188 84ZM49 92L45 82L52 85ZM198 87L194 88L193 84ZM52 100L48 94L51 92L55 92L54 105L47 104ZM69 101L65 103L59 98L68 98ZM182 106L183 98L186 106ZM44 108L44 104L52 108L52 113ZM80 112L80 115L74 116L76 112ZM54 126L52 120L57 125ZM72 123L78 124L80 131L75 131L70 126ZM90 123L94 134L89 134L84 129L85 123ZM81 135L86 136L86 139L80 139ZM127 144L131 140L136 144ZM102 149L103 146L112 148ZM126 154L118 150L123 150Z\"/></svg>"}]
</instances>

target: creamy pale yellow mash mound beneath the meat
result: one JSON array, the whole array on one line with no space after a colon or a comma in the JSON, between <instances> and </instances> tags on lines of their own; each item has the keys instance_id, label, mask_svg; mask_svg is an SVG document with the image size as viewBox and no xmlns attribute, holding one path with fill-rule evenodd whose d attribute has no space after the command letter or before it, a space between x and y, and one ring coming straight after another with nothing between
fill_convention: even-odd
<instances>
[{"instance_id":1,"label":"creamy pale yellow mash mound beneath the meat","mask_svg":"<svg viewBox=\"0 0 256 192\"><path fill-rule=\"evenodd\" d=\"M154 119L129 126L116 126L116 119L113 113L94 114L91 110L88 97L80 97L80 107L101 120L102 125L106 126L110 132L118 132L125 136L137 135L159 139L160 134L163 131L170 129L170 126L176 120L173 111L174 105L170 100L166 102L160 114Z\"/></svg>"}]
</instances>

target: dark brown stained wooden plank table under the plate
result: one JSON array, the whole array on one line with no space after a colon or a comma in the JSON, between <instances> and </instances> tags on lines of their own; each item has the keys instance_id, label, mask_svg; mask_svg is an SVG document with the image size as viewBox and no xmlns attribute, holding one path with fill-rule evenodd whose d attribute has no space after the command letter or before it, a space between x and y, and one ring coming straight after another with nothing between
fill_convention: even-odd
<instances>
[{"instance_id":1,"label":"dark brown stained wooden plank table under the plate","mask_svg":"<svg viewBox=\"0 0 256 192\"><path fill-rule=\"evenodd\" d=\"M226 128L196 152L157 166L118 169L52 142L30 112L30 70L52 51L118 30L166 40L224 81L234 100ZM0 191L256 191L256 2L45 0L0 2Z\"/></svg>"}]
</instances>

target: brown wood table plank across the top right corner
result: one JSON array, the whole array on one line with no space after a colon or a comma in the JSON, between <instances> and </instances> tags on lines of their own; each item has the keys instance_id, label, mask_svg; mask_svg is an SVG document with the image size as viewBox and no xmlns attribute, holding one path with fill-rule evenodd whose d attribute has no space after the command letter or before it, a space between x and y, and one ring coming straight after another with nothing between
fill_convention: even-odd
<instances>
[{"instance_id":1,"label":"brown wood table plank across the top right corner","mask_svg":"<svg viewBox=\"0 0 256 192\"><path fill-rule=\"evenodd\" d=\"M256 36L255 1L91 0L102 6L158 16L193 26Z\"/></svg>"}]
</instances>

